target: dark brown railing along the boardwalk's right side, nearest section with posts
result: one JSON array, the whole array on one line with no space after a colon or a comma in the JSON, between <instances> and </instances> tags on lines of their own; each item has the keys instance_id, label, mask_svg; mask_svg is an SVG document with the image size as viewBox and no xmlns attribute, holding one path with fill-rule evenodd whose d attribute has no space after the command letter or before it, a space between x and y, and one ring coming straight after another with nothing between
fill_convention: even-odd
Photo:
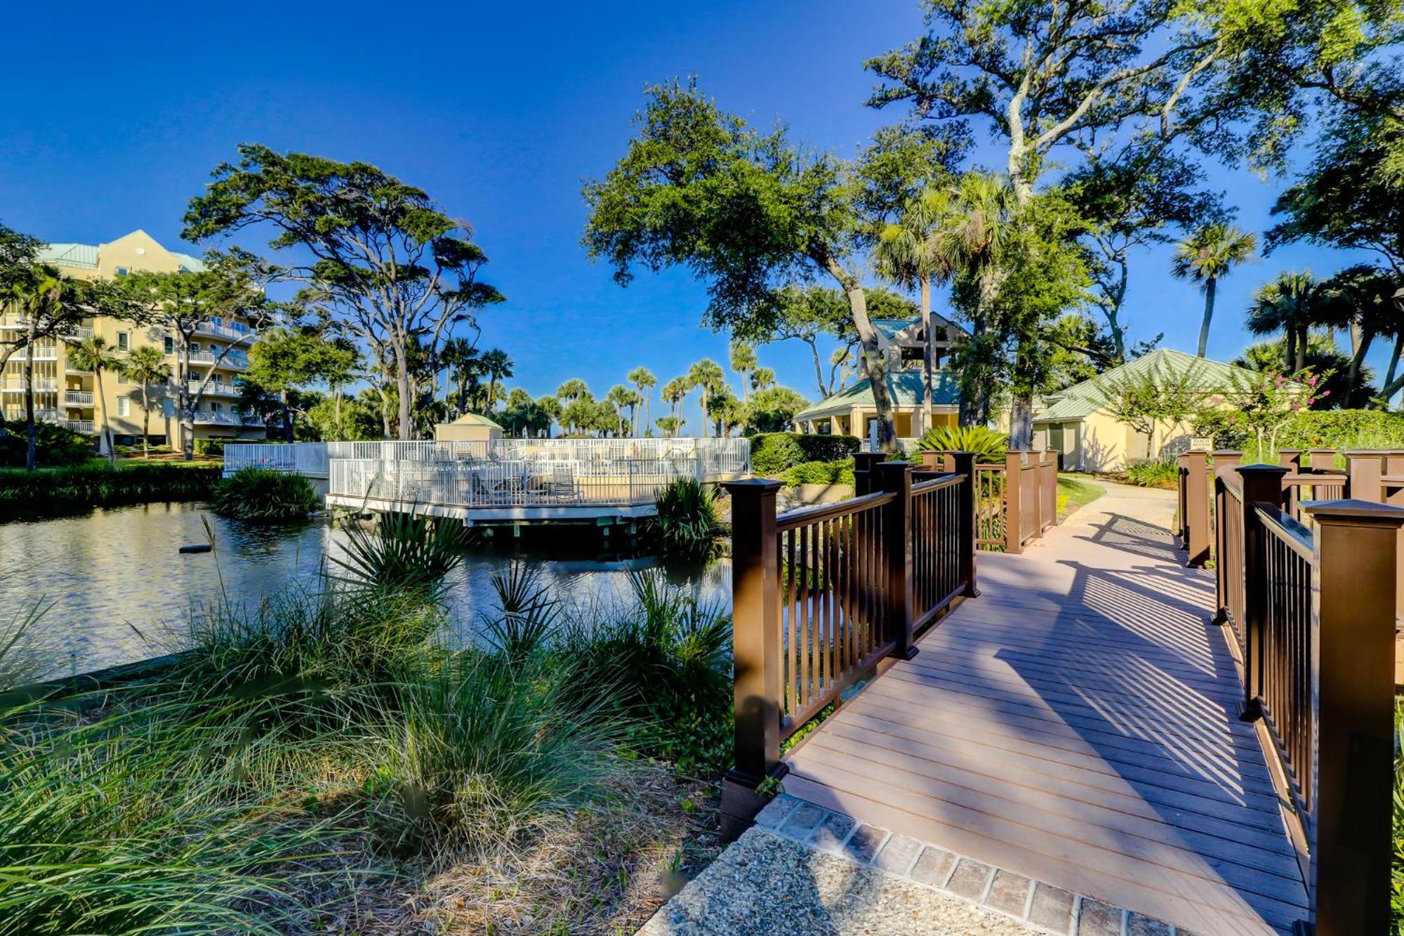
<instances>
[{"instance_id":1,"label":"dark brown railing along the boardwalk's right side, nearest section with posts","mask_svg":"<svg viewBox=\"0 0 1404 936\"><path fill-rule=\"evenodd\" d=\"M1303 500L1300 490L1313 485L1296 483L1289 471L1217 468L1216 620L1233 635L1243 718L1259 725L1290 805L1310 898L1304 922L1323 935L1386 932L1404 510ZM1316 488L1339 483L1320 481L1325 474Z\"/></svg>"}]
</instances>

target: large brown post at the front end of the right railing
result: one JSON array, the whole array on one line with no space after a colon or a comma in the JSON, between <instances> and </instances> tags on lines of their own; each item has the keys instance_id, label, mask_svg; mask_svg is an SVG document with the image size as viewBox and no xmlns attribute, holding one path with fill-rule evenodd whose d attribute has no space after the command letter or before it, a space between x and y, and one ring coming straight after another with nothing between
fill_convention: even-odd
<instances>
[{"instance_id":1,"label":"large brown post at the front end of the right railing","mask_svg":"<svg viewBox=\"0 0 1404 936\"><path fill-rule=\"evenodd\" d=\"M1383 933L1393 857L1396 548L1404 510L1363 500L1304 510L1316 521L1313 922L1318 936Z\"/></svg>"}]
</instances>

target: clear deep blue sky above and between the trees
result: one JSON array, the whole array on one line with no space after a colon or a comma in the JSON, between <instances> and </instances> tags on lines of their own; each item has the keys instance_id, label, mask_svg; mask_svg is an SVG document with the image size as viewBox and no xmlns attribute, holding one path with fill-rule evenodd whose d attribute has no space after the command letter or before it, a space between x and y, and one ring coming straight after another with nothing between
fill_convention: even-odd
<instances>
[{"instance_id":1,"label":"clear deep blue sky above and between the trees","mask_svg":"<svg viewBox=\"0 0 1404 936\"><path fill-rule=\"evenodd\" d=\"M534 395L569 377L602 395L639 364L661 382L703 356L724 363L724 337L698 327L706 298L687 273L621 290L578 245L580 183L623 153L644 84L696 74L723 107L852 155L900 118L863 107L862 60L921 30L914 0L114 13L80 0L59 24L35 4L7 11L10 35L28 38L0 58L0 221L59 242L145 228L178 247L185 204L236 143L368 160L475 226L486 278L508 297L484 312L483 343L511 354L511 384ZM1212 173L1240 223L1264 230L1280 183ZM1352 260L1293 246L1236 271L1220 285L1210 356L1247 343L1238 323L1259 282ZM1193 350L1202 298L1167 264L1168 249L1136 259L1125 318L1133 339L1164 330L1167 347ZM1372 354L1377 368L1384 357ZM760 360L813 398L804 346L767 346Z\"/></svg>"}]
</instances>

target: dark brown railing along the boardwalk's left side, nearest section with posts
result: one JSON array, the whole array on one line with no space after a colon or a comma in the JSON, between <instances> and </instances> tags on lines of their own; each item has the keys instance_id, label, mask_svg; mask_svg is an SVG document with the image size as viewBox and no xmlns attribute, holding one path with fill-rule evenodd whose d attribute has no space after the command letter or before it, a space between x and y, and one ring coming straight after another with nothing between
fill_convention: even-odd
<instances>
[{"instance_id":1,"label":"dark brown railing along the boardwalk's left side, nearest section with posts","mask_svg":"<svg viewBox=\"0 0 1404 936\"><path fill-rule=\"evenodd\" d=\"M739 835L762 805L755 790L783 773L779 743L959 597L973 597L976 465L917 471L866 455L858 496L775 513L779 482L737 481L731 495L736 766L723 824Z\"/></svg>"}]
</instances>

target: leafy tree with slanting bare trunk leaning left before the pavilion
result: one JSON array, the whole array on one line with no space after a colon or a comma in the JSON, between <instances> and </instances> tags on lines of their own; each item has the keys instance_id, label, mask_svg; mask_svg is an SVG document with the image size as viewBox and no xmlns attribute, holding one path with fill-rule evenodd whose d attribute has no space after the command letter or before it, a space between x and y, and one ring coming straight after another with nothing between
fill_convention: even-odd
<instances>
[{"instance_id":1,"label":"leafy tree with slanting bare trunk leaning left before the pavilion","mask_svg":"<svg viewBox=\"0 0 1404 936\"><path fill-rule=\"evenodd\" d=\"M879 416L894 447L887 364L852 261L872 219L852 167L761 134L695 83L654 86L637 134L604 180L585 186L584 245L625 285L633 267L684 266L708 284L708 322L740 337L774 329L781 290L826 277L842 290Z\"/></svg>"}]
</instances>

